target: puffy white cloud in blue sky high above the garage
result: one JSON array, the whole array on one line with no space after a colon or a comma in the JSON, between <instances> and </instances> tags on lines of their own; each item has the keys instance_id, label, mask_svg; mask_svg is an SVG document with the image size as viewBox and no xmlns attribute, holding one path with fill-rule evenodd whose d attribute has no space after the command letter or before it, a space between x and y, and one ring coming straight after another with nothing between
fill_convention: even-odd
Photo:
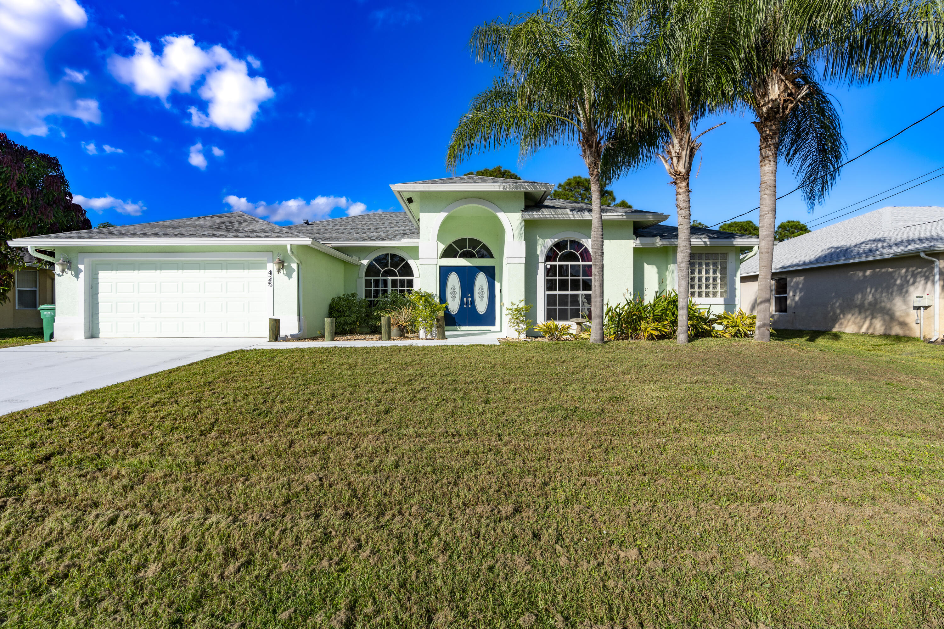
<instances>
[{"instance_id":1,"label":"puffy white cloud in blue sky high above the garage","mask_svg":"<svg viewBox=\"0 0 944 629\"><path fill-rule=\"evenodd\" d=\"M245 131L252 126L260 103L276 95L263 77L249 76L246 61L233 57L223 46L205 49L190 35L168 35L160 40L163 52L156 56L149 41L133 41L134 55L109 59L111 74L136 93L160 98L164 105L171 91L190 93L202 78L197 93L210 105L206 113L187 109L194 126ZM257 58L247 60L253 68L261 66Z\"/></svg>"}]
</instances>

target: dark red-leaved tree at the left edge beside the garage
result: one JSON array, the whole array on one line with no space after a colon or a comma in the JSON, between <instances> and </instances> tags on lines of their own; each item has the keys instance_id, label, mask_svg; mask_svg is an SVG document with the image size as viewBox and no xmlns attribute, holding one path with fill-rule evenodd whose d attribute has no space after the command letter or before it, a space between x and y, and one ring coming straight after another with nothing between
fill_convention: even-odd
<instances>
[{"instance_id":1,"label":"dark red-leaved tree at the left edge beside the garage","mask_svg":"<svg viewBox=\"0 0 944 629\"><path fill-rule=\"evenodd\" d=\"M0 304L13 288L10 268L23 263L7 240L78 229L92 229L92 223L72 202L59 159L0 133Z\"/></svg>"}]
</instances>

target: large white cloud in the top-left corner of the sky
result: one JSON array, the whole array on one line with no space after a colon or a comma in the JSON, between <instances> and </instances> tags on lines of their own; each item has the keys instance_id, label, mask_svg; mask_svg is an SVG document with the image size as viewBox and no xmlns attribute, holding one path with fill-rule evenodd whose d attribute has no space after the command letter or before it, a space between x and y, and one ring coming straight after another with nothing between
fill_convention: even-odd
<instances>
[{"instance_id":1,"label":"large white cloud in the top-left corner of the sky","mask_svg":"<svg viewBox=\"0 0 944 629\"><path fill-rule=\"evenodd\" d=\"M49 116L101 122L97 101L76 98L72 84L83 82L85 75L66 69L65 76L53 83L45 66L49 48L87 23L88 16L76 0L0 2L0 127L44 136Z\"/></svg>"}]
</instances>

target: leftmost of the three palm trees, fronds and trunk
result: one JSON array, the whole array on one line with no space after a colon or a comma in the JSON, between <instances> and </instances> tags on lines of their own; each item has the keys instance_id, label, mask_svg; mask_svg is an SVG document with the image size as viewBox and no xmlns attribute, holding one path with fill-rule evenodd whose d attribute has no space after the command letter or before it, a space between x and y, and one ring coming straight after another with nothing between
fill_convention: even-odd
<instances>
[{"instance_id":1,"label":"leftmost of the three palm trees, fronds and trunk","mask_svg":"<svg viewBox=\"0 0 944 629\"><path fill-rule=\"evenodd\" d=\"M452 134L447 166L478 151L516 142L521 157L552 144L576 141L590 178L593 255L591 342L603 342L603 220L600 180L607 158L621 148L625 166L654 155L657 135L642 137L623 115L632 84L622 72L636 45L618 0L559 0L542 10L479 26L472 36L477 60L503 74L472 101Z\"/></svg>"}]
</instances>

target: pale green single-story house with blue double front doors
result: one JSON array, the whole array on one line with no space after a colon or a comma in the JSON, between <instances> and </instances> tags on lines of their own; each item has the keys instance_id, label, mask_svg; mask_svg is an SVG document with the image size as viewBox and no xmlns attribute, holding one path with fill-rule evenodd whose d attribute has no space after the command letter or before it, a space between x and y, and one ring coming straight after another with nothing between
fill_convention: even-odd
<instances>
[{"instance_id":1,"label":"pale green single-story house with blue double front doors","mask_svg":"<svg viewBox=\"0 0 944 629\"><path fill-rule=\"evenodd\" d=\"M551 184L476 175L391 188L405 212L289 227L231 212L11 242L71 265L57 278L57 339L262 337L270 317L309 337L336 295L416 288L447 303L447 329L506 331L504 306L520 300L537 323L593 315L588 205L549 199ZM667 218L604 208L605 300L675 289ZM739 257L757 239L694 229L692 245L695 300L735 309Z\"/></svg>"}]
</instances>

